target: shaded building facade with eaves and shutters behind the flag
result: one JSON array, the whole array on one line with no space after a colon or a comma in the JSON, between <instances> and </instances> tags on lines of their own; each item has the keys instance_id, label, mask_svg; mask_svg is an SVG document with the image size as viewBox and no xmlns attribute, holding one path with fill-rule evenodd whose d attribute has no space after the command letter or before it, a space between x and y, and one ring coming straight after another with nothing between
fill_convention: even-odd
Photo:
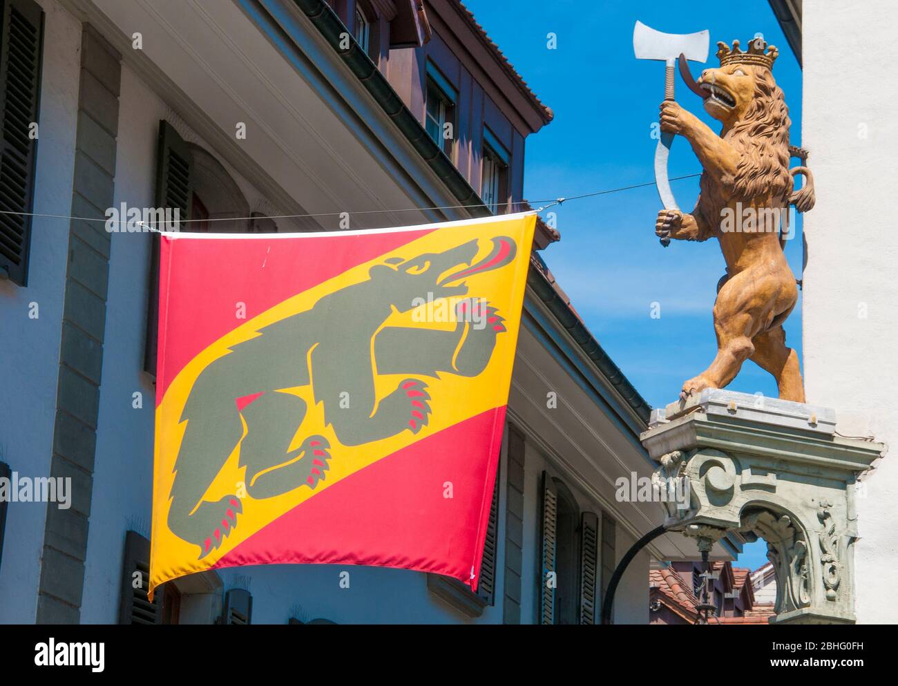
<instances>
[{"instance_id":1,"label":"shaded building facade with eaves and shutters behind the flag","mask_svg":"<svg viewBox=\"0 0 898 686\"><path fill-rule=\"evenodd\" d=\"M658 504L614 497L615 479L652 470L638 442L649 409L541 253L479 594L323 565L185 576L146 600L154 240L137 221L177 208L181 230L264 233L527 207L524 141L552 114L471 13L454 0L0 4L0 174L19 191L2 200L0 469L70 484L67 505L0 505L0 621L596 621L617 561L662 520ZM540 223L534 248L558 238ZM614 620L647 623L649 558L691 556L676 538L643 550Z\"/></svg>"}]
</instances>

